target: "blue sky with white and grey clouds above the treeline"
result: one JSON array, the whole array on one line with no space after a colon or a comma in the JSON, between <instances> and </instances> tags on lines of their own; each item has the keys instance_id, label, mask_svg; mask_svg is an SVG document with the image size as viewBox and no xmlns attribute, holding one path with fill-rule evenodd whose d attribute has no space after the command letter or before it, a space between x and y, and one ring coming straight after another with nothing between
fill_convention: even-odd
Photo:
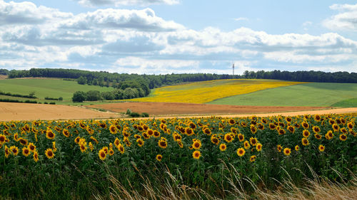
<instances>
[{"instance_id":1,"label":"blue sky with white and grey clouds above the treeline","mask_svg":"<svg viewBox=\"0 0 357 200\"><path fill-rule=\"evenodd\" d=\"M350 0L0 0L0 68L357 72Z\"/></svg>"}]
</instances>

